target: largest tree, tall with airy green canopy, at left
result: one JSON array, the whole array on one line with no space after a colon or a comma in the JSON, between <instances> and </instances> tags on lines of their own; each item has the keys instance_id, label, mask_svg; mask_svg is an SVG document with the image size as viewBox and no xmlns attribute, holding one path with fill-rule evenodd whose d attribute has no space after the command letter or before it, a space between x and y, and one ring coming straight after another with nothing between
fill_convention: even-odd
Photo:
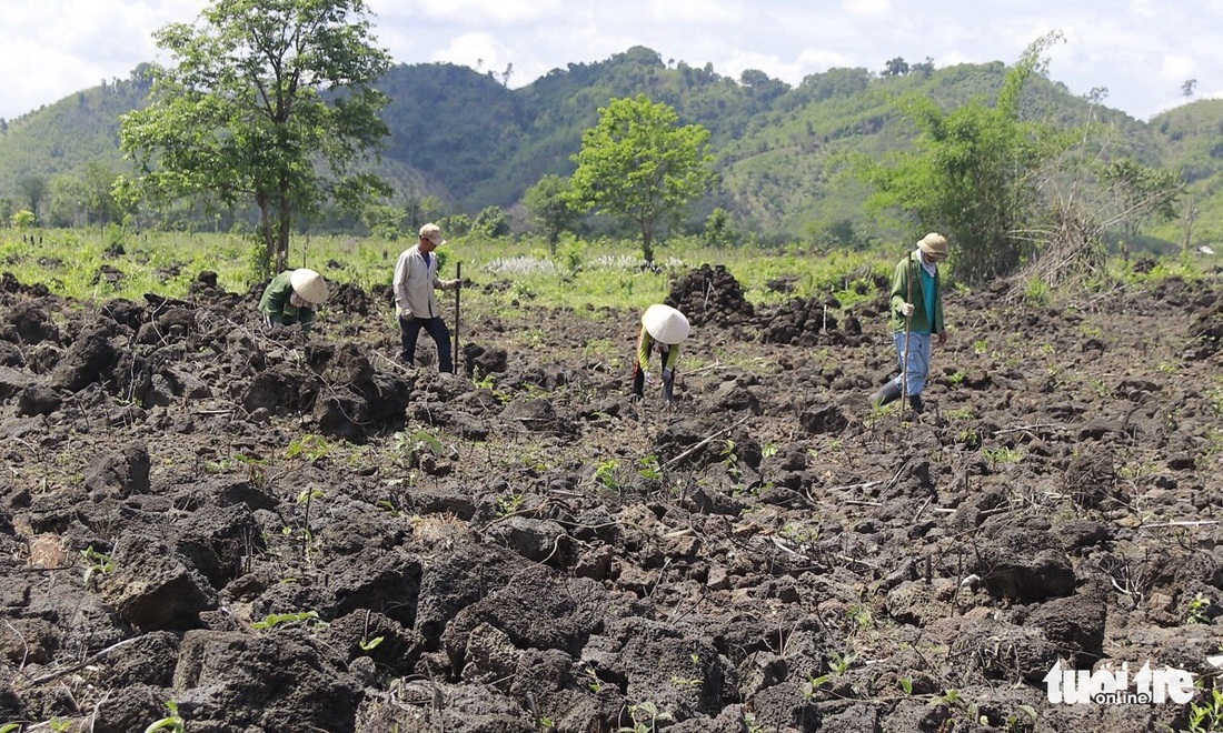
<instances>
[{"instance_id":1,"label":"largest tree, tall with airy green canopy, at left","mask_svg":"<svg viewBox=\"0 0 1223 733\"><path fill-rule=\"evenodd\" d=\"M362 0L215 0L194 26L154 34L150 103L125 115L120 144L139 167L132 195L213 193L252 200L269 263L284 266L297 221L325 202L385 191L360 166L388 134L390 65Z\"/></svg>"}]
</instances>

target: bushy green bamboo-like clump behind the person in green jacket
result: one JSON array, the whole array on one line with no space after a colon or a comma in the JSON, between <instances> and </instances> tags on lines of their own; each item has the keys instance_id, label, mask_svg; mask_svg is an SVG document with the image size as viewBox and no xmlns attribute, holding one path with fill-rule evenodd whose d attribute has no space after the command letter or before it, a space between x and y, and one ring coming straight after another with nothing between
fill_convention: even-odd
<instances>
[{"instance_id":1,"label":"bushy green bamboo-like clump behind the person in green jacket","mask_svg":"<svg viewBox=\"0 0 1223 733\"><path fill-rule=\"evenodd\" d=\"M1037 172L1069 142L1020 120L1019 100L1047 65L1041 54L1060 38L1049 33L1024 51L992 108L972 100L948 112L927 97L910 98L916 149L859 169L876 188L870 208L898 208L914 219L914 232L948 235L956 275L967 282L1011 272L1030 250L1024 232L1040 209Z\"/></svg>"}]
</instances>

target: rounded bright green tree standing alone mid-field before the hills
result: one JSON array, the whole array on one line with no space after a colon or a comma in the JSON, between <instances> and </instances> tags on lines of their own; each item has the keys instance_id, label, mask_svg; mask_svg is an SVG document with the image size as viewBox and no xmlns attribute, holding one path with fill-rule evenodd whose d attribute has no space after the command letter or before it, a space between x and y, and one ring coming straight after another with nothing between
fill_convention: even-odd
<instances>
[{"instance_id":1,"label":"rounded bright green tree standing alone mid-field before the hills","mask_svg":"<svg viewBox=\"0 0 1223 733\"><path fill-rule=\"evenodd\" d=\"M679 126L679 115L645 94L613 99L599 108L597 126L582 131L582 149L572 155L570 197L580 210L597 209L632 220L641 231L641 252L654 261L654 231L713 181L709 131Z\"/></svg>"}]
</instances>

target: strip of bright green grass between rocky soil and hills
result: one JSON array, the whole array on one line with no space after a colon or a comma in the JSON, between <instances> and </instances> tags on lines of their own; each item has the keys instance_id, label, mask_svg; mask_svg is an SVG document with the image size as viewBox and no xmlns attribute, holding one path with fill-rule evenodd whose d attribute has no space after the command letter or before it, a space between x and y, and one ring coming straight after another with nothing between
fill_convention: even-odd
<instances>
[{"instance_id":1,"label":"strip of bright green grass between rocky soil and hills","mask_svg":"<svg viewBox=\"0 0 1223 733\"><path fill-rule=\"evenodd\" d=\"M291 247L290 266L309 266L334 283L350 282L368 291L390 282L395 259L411 244L411 239L298 237ZM647 269L640 246L631 241L569 238L549 254L544 242L533 237L455 237L439 255L443 277L454 277L461 266L464 279L477 286L499 283L499 292L509 299L543 307L642 308L665 298L674 276L703 264L725 266L756 305L832 294L850 307L874 297L872 280L888 276L905 250L900 246L887 252L832 253L799 246L711 249L695 238L676 238L657 248L658 266ZM245 293L262 282L254 254L248 238L226 233L135 233L117 227L0 230L0 272L94 303L139 299L148 292L182 297L205 270L216 272L226 291ZM1217 266L1213 259L1194 255L1164 257L1139 274L1131 264L1115 260L1107 281L1192 279ZM954 280L954 269L950 276ZM790 291L768 286L778 280L786 281ZM1042 298L1057 294L1047 288L1033 292Z\"/></svg>"}]
</instances>

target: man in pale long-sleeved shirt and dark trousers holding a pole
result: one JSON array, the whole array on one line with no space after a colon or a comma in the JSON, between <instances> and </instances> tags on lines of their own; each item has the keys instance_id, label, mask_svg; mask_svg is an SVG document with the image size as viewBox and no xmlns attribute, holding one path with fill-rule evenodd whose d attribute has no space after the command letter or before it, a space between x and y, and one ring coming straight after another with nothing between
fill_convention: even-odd
<instances>
[{"instance_id":1,"label":"man in pale long-sleeved shirt and dark trousers holding a pole","mask_svg":"<svg viewBox=\"0 0 1223 733\"><path fill-rule=\"evenodd\" d=\"M438 371L454 374L450 357L450 331L442 320L435 288L454 290L457 280L438 280L438 257L434 249L445 244L435 224L421 227L421 238L399 255L391 288L395 292L395 315L399 316L402 351L399 354L408 366L416 362L416 338L424 329L438 345Z\"/></svg>"}]
</instances>

